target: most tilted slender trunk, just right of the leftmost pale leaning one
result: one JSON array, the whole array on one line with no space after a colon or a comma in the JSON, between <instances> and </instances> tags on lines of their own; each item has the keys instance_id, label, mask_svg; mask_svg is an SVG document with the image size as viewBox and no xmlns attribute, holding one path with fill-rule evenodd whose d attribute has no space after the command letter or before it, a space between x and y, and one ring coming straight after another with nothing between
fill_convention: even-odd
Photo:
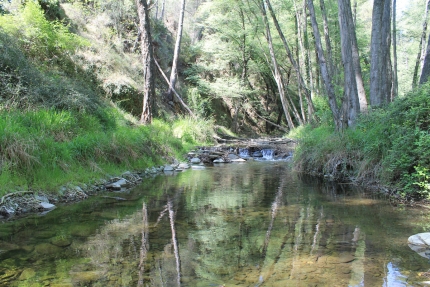
<instances>
[{"instance_id":1,"label":"most tilted slender trunk, just right of the leftmost pale leaning one","mask_svg":"<svg viewBox=\"0 0 430 287\"><path fill-rule=\"evenodd\" d=\"M294 56L293 56L293 54L291 52L291 49L290 49L290 47L288 45L288 42L285 39L284 33L282 32L281 27L279 26L278 20L276 19L276 15L275 15L275 13L274 13L274 11L272 9L272 5L270 4L270 1L269 0L265 0L265 3L267 5L267 8L269 9L270 15L272 16L273 23L275 24L276 30L278 31L278 34L279 34L279 37L281 38L282 43L284 44L284 49L287 52L288 59L290 60L291 65L293 65L293 68L294 68L294 70L296 72L296 77L297 77L297 80L299 82L299 87L303 87L303 89L304 89L306 101L308 103L309 119L312 119L313 115L315 113L315 108L314 108L314 105L313 105L313 102L312 102L311 93L306 88L306 84L305 84L305 81L303 80L302 74L300 73L299 66L298 66L296 60L294 59ZM301 99L301 90L300 90L300 88L299 88L299 96L300 96L300 99ZM300 100L300 102L302 103L301 100ZM306 117L304 115L302 104L301 104L301 107L302 107L303 121L306 122Z\"/></svg>"}]
</instances>

